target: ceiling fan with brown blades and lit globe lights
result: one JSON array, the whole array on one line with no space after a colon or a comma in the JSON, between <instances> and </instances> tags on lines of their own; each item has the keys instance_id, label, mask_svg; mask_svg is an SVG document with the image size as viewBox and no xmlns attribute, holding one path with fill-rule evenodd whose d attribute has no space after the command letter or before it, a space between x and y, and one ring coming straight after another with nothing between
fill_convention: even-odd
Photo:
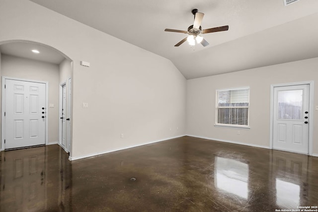
<instances>
[{"instance_id":1,"label":"ceiling fan with brown blades and lit globe lights","mask_svg":"<svg viewBox=\"0 0 318 212\"><path fill-rule=\"evenodd\" d=\"M211 32L221 32L221 31L227 31L229 30L229 26L219 26L219 27L214 27L210 29L201 29L201 22L204 16L204 13L198 12L198 9L192 9L192 14L194 15L194 23L193 25L188 27L188 31L184 30L177 30L177 29L165 29L164 31L166 32L180 32L180 33L185 33L189 34L188 37L184 38L181 40L179 43L177 43L174 46L180 46L183 44L185 41L188 41L190 46L194 46L195 43L201 43L202 46L207 46L209 43L201 36L201 34L207 34Z\"/></svg>"}]
</instances>

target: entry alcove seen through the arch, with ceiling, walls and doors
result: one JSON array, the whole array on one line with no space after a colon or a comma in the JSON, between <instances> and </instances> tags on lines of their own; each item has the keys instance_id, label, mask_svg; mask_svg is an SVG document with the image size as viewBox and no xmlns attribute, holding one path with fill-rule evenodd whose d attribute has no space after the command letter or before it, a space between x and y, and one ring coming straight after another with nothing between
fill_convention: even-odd
<instances>
[{"instance_id":1,"label":"entry alcove seen through the arch, with ceiling, walls and doors","mask_svg":"<svg viewBox=\"0 0 318 212\"><path fill-rule=\"evenodd\" d=\"M43 144L60 144L59 86L61 82L68 81L72 77L72 60L57 49L45 44L33 41L11 40L0 42L0 62L0 75L2 77L2 81L0 81L0 83L2 84L0 85L0 87L2 88L0 150ZM6 86L5 84L7 84L7 82L10 82L5 82L5 80L12 79L19 80L15 82L22 82L22 84L20 83L19 85L19 83L13 83L13 85L9 89L9 91L12 91L13 97L11 103L8 103L9 101L4 99L4 97L5 95L8 96L9 94L5 93L6 88L4 88L4 86ZM41 83L45 85L45 106L37 105L39 100L38 98L42 97L35 94L38 87L41 87L38 86L41 85ZM68 84L66 86L68 87ZM22 89L22 87L25 88L24 91L26 93L16 92L17 89ZM68 88L68 90L71 90L71 88ZM24 98L22 98L22 96ZM72 99L69 99L69 97L69 95L66 96L66 101L68 103L72 102ZM67 105L71 104L69 103ZM34 108L36 107L38 111L35 111ZM28 114L28 116L35 115L37 113L41 116L39 120L37 120L38 117L29 117L28 119L25 119L28 121L24 121L24 119L20 117L11 117L13 120L13 124L9 124L9 121L6 120L4 116L4 112L6 112L5 115L8 115L6 108L12 108L12 110L15 110L12 112L12 116L21 115L21 113L23 113L24 115ZM18 111L18 109L20 111ZM22 112L21 110L24 111ZM67 112L68 115L71 116L72 108L68 109ZM42 116L44 116L44 118L42 118ZM10 116L8 118L10 118ZM43 128L37 128L41 127L43 123L45 123L44 130ZM71 125L66 127L66 129L68 131L71 131ZM14 141L22 141L26 139L26 137L29 138L26 140L30 140L31 138L32 140L35 140L35 138L41 135L44 135L45 138L39 139L41 140L40 143L34 144L32 142L21 142L20 144L17 144L18 142L16 142L18 146L14 146L7 143L6 137L9 136L9 132L12 132L14 134L13 136L11 136L15 139ZM69 133L67 132L67 135L68 134ZM67 146L65 146L64 149L70 152L72 139L71 136L67 136L67 138L68 144Z\"/></svg>"}]
</instances>

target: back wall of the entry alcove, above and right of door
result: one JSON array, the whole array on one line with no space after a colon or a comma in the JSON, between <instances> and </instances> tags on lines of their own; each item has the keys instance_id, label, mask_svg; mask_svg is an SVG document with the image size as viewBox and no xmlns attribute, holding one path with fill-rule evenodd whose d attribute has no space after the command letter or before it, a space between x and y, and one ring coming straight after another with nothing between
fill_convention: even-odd
<instances>
[{"instance_id":1,"label":"back wall of the entry alcove, above and right of door","mask_svg":"<svg viewBox=\"0 0 318 212\"><path fill-rule=\"evenodd\" d=\"M48 142L57 142L59 133L59 66L2 54L1 75L49 82L49 104L54 104L54 108L48 108Z\"/></svg>"}]
</instances>

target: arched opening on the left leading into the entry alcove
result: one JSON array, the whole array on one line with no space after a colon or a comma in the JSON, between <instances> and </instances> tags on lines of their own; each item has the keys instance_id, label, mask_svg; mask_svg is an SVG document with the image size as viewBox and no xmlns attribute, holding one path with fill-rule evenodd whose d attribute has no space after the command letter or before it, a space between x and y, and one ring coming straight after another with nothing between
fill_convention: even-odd
<instances>
[{"instance_id":1,"label":"arched opening on the left leading into the entry alcove","mask_svg":"<svg viewBox=\"0 0 318 212\"><path fill-rule=\"evenodd\" d=\"M72 149L72 123L70 119L72 114L72 60L51 46L22 40L0 42L0 56L0 75L2 77L2 81L0 82L0 87L2 89L1 150L33 146L34 143L32 142L26 142L25 144L22 142L18 145L6 145L9 142L14 143L15 141L22 141L22 138L30 137L32 139L37 136L37 131L34 129L40 122L36 121L35 118L31 117L26 118L25 120L24 118L18 118L18 121L15 122L8 121L9 118L14 118L13 116L10 117L6 112L7 108L18 107L18 109L22 110L25 105L26 108L38 107L35 111L31 112L28 109L28 113L40 115L39 120L41 123L45 123L45 128L42 128L41 130L45 131L44 138L40 139L42 142L39 144L48 145L58 143L66 151L70 152ZM23 95L15 95L15 97L11 98L12 101L6 99L7 96L16 93L14 87L11 87L11 90L5 87L6 81L12 82L12 80L15 80L13 81L13 84L15 82L27 83L28 85L21 84L20 88L25 87L28 91L31 89L30 87L37 87L37 84L32 85L29 84L29 82L44 83L45 88L43 89L45 89L45 95L41 98L45 99L45 107L34 106L35 104L27 105L27 102L32 103L32 101L27 99L27 96L30 95L30 93L19 93L23 94L23 98L27 101L23 101L23 98L21 97ZM63 96L61 96L63 93L60 92L61 85L63 84L65 85L64 91L66 95L64 97L67 99L66 104L64 105L65 108L63 108ZM38 101L37 98L39 96L36 96L37 95L32 96L34 100L33 103ZM18 106L16 104L18 104ZM10 113L15 112L14 110L10 111ZM27 112L23 113L27 114ZM43 116L44 118L42 118ZM65 122L61 117L69 120ZM32 134L32 132L35 133ZM62 142L62 138L66 140Z\"/></svg>"}]
</instances>

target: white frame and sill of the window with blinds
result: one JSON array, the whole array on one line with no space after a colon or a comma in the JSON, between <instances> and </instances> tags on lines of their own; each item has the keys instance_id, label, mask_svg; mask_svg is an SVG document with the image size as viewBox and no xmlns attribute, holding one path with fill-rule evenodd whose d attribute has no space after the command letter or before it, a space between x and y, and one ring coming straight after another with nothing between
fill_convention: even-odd
<instances>
[{"instance_id":1,"label":"white frame and sill of the window with blinds","mask_svg":"<svg viewBox=\"0 0 318 212\"><path fill-rule=\"evenodd\" d=\"M219 92L220 91L233 91L233 90L248 90L248 106L229 106L230 108L247 108L247 125L236 125L236 124L222 124L218 123L218 109L219 107ZM237 88L225 88L216 89L215 92L215 127L223 128L239 128L239 129L250 129L249 115L250 115L250 87L237 87Z\"/></svg>"}]
</instances>

